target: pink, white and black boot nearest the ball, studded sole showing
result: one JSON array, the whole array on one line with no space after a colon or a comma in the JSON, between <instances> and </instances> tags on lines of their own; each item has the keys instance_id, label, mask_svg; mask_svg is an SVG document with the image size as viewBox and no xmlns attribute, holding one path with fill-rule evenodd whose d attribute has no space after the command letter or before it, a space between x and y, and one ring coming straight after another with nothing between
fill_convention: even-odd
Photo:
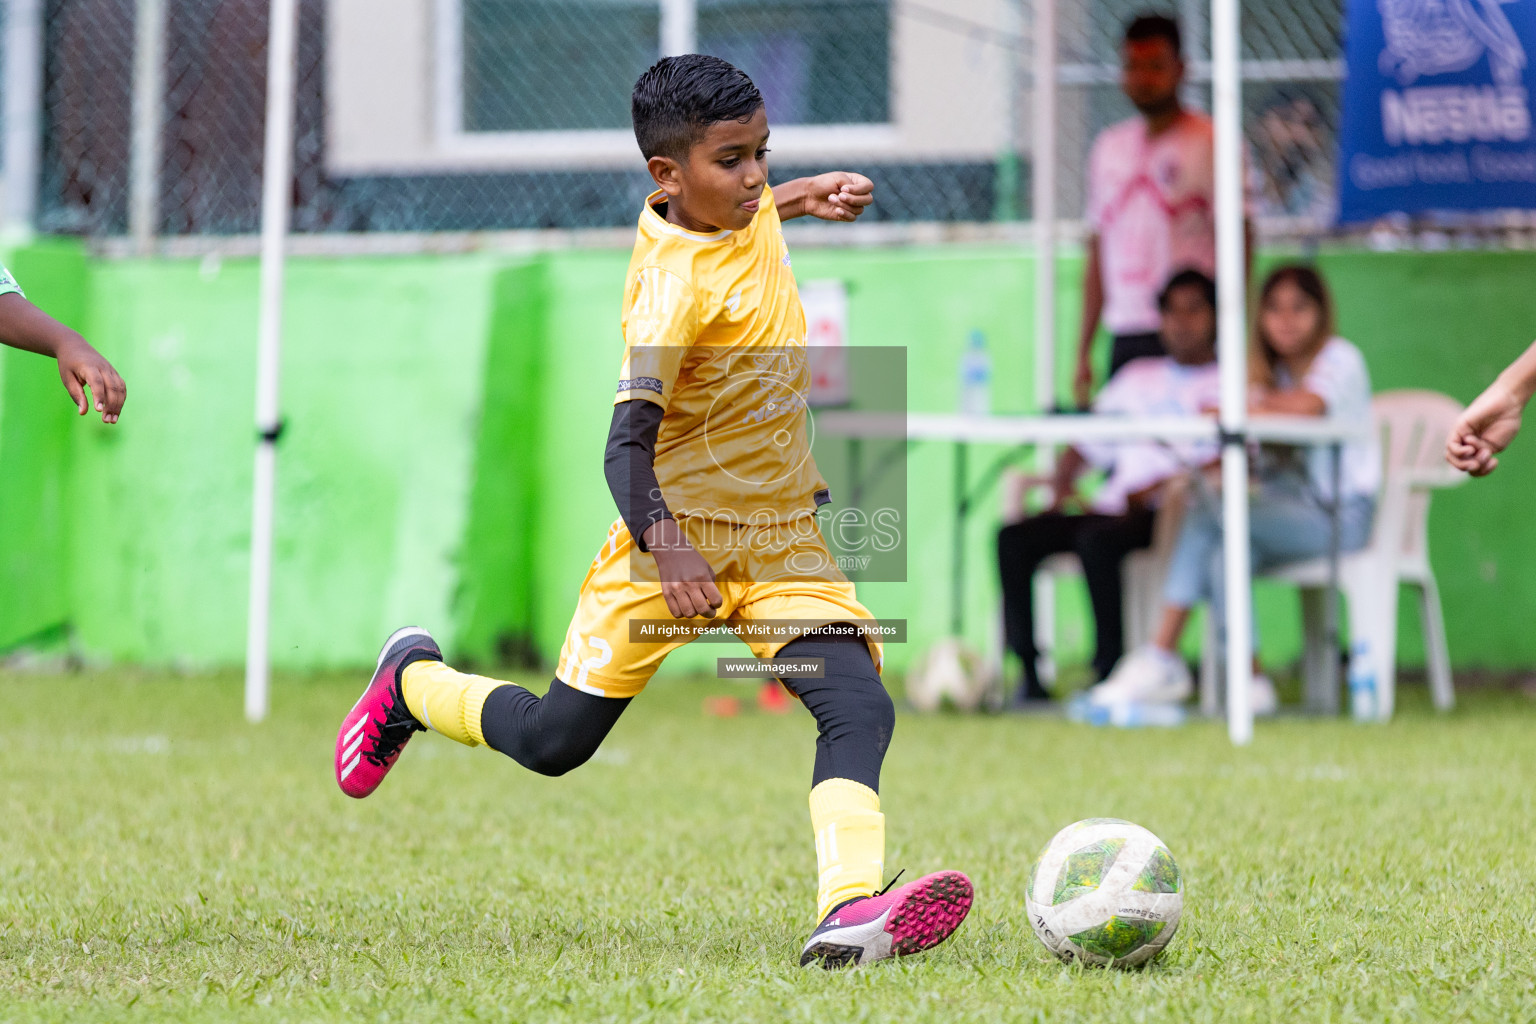
<instances>
[{"instance_id":1,"label":"pink, white and black boot nearest the ball, studded sole showing","mask_svg":"<svg viewBox=\"0 0 1536 1024\"><path fill-rule=\"evenodd\" d=\"M971 880L958 870L925 875L900 889L894 884L834 907L806 940L800 966L862 967L920 953L954 935L971 912Z\"/></svg>"}]
</instances>

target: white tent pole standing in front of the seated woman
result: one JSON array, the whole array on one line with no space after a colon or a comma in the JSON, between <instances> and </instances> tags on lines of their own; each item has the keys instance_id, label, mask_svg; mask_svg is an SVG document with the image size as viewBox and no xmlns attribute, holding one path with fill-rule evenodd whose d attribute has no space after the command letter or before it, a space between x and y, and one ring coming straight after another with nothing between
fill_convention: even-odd
<instances>
[{"instance_id":1,"label":"white tent pole standing in front of the seated woman","mask_svg":"<svg viewBox=\"0 0 1536 1024\"><path fill-rule=\"evenodd\" d=\"M1227 734L1253 738L1253 622L1247 505L1247 259L1243 252L1243 94L1238 0L1210 0L1212 94L1217 127L1217 336L1221 362L1221 537L1227 594ZM1233 442L1235 439L1235 442Z\"/></svg>"}]
</instances>

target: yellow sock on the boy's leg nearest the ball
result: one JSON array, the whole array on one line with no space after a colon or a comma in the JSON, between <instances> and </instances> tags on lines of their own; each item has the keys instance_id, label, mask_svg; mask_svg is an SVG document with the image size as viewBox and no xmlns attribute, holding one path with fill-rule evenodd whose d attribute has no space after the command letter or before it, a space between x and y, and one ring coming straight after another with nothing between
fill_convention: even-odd
<instances>
[{"instance_id":1,"label":"yellow sock on the boy's leg nearest the ball","mask_svg":"<svg viewBox=\"0 0 1536 1024\"><path fill-rule=\"evenodd\" d=\"M816 920L839 903L874 895L885 872L880 795L851 778L828 778L811 791L816 829Z\"/></svg>"}]
</instances>

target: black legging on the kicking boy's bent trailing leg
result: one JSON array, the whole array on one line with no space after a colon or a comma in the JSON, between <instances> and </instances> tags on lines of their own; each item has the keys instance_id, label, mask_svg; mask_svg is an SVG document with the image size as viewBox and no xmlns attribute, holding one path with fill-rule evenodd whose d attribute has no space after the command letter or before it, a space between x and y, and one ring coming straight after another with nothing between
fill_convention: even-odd
<instances>
[{"instance_id":1,"label":"black legging on the kicking boy's bent trailing leg","mask_svg":"<svg viewBox=\"0 0 1536 1024\"><path fill-rule=\"evenodd\" d=\"M485 745L541 775L564 775L598 752L631 697L598 697L561 680L535 697L507 683L490 691L481 712Z\"/></svg>"}]
</instances>

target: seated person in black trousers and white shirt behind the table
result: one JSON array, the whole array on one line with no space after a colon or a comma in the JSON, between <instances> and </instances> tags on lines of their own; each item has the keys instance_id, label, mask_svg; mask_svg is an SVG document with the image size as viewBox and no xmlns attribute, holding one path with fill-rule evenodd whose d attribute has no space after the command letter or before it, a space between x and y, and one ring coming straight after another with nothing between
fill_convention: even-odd
<instances>
[{"instance_id":1,"label":"seated person in black trousers and white shirt behind the table","mask_svg":"<svg viewBox=\"0 0 1536 1024\"><path fill-rule=\"evenodd\" d=\"M1198 270L1186 270L1163 289L1163 342L1167 356L1137 359L1098 393L1094 411L1120 416L1193 416L1220 399L1217 372L1217 286ZM1052 554L1075 551L1083 562L1094 606L1094 669L1104 679L1124 652L1120 563L1152 543L1152 517L1164 482L1189 465L1217 457L1210 442L1164 445L1134 442L1080 444L1061 453L1051 508L1003 527L997 565L1003 580L1003 620L1009 649L1025 663L1015 703L1043 700L1034 623L1034 576ZM1077 494L1087 468L1107 471L1089 502ZM1048 481L1038 481L1048 482ZM1086 505L1083 511L1068 511Z\"/></svg>"}]
</instances>

